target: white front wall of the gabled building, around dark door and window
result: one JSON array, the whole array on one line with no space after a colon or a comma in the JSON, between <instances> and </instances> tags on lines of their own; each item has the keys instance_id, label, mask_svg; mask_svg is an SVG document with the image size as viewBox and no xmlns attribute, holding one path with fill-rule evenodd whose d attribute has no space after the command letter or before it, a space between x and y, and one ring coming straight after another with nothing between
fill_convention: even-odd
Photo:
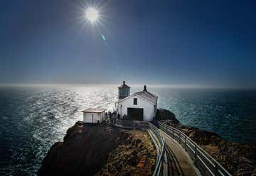
<instances>
[{"instance_id":1,"label":"white front wall of the gabled building, around dark door and window","mask_svg":"<svg viewBox=\"0 0 256 176\"><path fill-rule=\"evenodd\" d=\"M134 105L134 98L137 98L137 105ZM122 105L122 107L121 107L121 105ZM117 111L120 114L121 118L122 118L122 116L124 116L124 114L127 115L127 108L143 108L143 120L144 121L152 121L155 116L154 104L151 104L151 103L149 103L149 101L146 101L136 95L131 96L131 97L119 102L119 104L117 106Z\"/></svg>"}]
</instances>

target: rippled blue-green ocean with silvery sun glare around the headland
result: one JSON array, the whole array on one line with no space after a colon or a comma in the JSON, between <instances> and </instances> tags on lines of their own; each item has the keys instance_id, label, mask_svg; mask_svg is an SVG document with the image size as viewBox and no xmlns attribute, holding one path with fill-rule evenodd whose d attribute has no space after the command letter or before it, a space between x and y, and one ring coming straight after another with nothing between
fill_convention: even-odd
<instances>
[{"instance_id":1,"label":"rippled blue-green ocean with silvery sun glare around the headland","mask_svg":"<svg viewBox=\"0 0 256 176\"><path fill-rule=\"evenodd\" d=\"M137 92L143 86L134 86ZM185 125L214 131L228 141L256 142L256 90L148 86ZM0 175L36 175L50 146L87 107L114 108L117 85L0 87Z\"/></svg>"}]
</instances>

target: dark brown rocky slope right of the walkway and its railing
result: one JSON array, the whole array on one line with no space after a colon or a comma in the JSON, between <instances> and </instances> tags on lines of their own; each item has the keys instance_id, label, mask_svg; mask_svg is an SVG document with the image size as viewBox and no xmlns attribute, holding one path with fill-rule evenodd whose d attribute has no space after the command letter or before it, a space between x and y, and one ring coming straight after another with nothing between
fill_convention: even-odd
<instances>
[{"instance_id":1,"label":"dark brown rocky slope right of the walkway and its railing","mask_svg":"<svg viewBox=\"0 0 256 176\"><path fill-rule=\"evenodd\" d=\"M169 116L170 112L161 111ZM176 119L176 118L175 118ZM231 143L218 136L217 133L201 130L193 126L184 126L177 122L173 115L162 122L183 131L189 138L201 145L221 165L233 175L256 175L256 145Z\"/></svg>"}]
</instances>

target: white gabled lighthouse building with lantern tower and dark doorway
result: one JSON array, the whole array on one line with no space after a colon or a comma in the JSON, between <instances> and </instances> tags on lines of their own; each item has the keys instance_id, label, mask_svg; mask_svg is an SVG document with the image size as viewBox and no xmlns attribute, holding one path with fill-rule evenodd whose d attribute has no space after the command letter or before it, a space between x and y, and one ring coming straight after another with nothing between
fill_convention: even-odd
<instances>
[{"instance_id":1,"label":"white gabled lighthouse building with lantern tower and dark doorway","mask_svg":"<svg viewBox=\"0 0 256 176\"><path fill-rule=\"evenodd\" d=\"M123 82L118 87L119 101L115 104L120 119L132 121L153 121L156 116L158 97L147 91L146 85L143 91L129 95L130 87Z\"/></svg>"}]
</instances>

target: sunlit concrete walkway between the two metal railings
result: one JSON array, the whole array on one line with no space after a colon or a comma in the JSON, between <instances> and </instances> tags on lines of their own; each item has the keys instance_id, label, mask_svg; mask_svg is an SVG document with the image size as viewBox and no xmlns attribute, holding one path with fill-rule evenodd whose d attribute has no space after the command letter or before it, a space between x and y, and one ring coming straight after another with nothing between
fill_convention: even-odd
<instances>
[{"instance_id":1,"label":"sunlit concrete walkway between the two metal railings","mask_svg":"<svg viewBox=\"0 0 256 176\"><path fill-rule=\"evenodd\" d=\"M159 129L159 131L161 130ZM161 133L166 141L163 175L200 175L183 148L164 131L161 131Z\"/></svg>"}]
</instances>

